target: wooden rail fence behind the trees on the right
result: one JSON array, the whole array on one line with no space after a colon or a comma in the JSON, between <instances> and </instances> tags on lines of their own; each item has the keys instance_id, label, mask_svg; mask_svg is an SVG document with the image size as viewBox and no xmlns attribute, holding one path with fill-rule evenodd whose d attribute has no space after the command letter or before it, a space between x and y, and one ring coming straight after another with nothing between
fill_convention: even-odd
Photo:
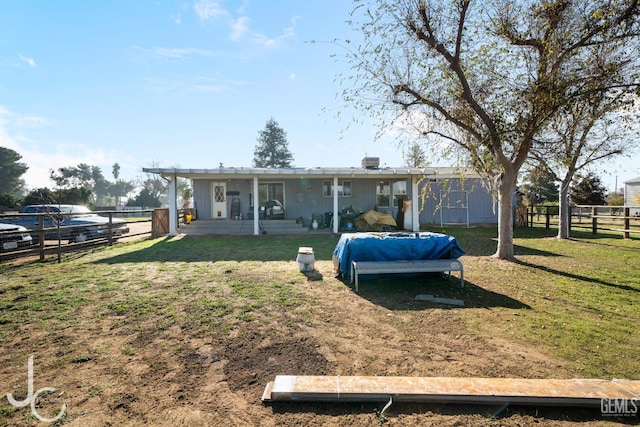
<instances>
[{"instance_id":1,"label":"wooden rail fence behind the trees on the right","mask_svg":"<svg viewBox=\"0 0 640 427\"><path fill-rule=\"evenodd\" d=\"M569 208L571 221L569 229L598 232L619 232L625 239L632 234L640 234L640 206L594 206L577 205ZM537 205L527 207L527 227L551 228L558 225L557 205Z\"/></svg>"}]
</instances>

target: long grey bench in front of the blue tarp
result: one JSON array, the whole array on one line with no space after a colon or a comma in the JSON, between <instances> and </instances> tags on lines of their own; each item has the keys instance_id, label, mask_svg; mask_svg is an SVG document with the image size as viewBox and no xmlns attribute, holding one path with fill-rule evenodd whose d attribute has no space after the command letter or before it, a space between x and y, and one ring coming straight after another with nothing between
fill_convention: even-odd
<instances>
[{"instance_id":1,"label":"long grey bench in front of the blue tarp","mask_svg":"<svg viewBox=\"0 0 640 427\"><path fill-rule=\"evenodd\" d=\"M460 286L464 287L464 271L462 262L457 259L419 259L398 261L353 261L351 263L351 283L356 282L358 292L358 276L360 274L395 274L395 273L444 273L460 272Z\"/></svg>"}]
</instances>

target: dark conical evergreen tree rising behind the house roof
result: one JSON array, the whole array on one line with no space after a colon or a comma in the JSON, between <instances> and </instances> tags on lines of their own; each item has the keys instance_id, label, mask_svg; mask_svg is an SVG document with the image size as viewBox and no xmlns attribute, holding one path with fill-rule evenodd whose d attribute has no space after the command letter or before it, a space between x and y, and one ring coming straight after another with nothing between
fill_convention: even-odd
<instances>
[{"instance_id":1,"label":"dark conical evergreen tree rising behind the house roof","mask_svg":"<svg viewBox=\"0 0 640 427\"><path fill-rule=\"evenodd\" d=\"M289 151L287 133L273 118L267 121L258 136L253 152L253 166L257 168L289 168L293 154Z\"/></svg>"}]
</instances>

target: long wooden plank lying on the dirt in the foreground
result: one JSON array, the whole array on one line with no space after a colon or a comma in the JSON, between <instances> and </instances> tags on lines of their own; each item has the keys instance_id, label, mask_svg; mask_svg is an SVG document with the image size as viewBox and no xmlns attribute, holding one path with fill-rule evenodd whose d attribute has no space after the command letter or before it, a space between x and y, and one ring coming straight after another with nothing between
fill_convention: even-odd
<instances>
[{"instance_id":1,"label":"long wooden plank lying on the dirt in the foreground","mask_svg":"<svg viewBox=\"0 0 640 427\"><path fill-rule=\"evenodd\" d=\"M278 375L263 402L394 401L600 406L602 399L640 399L640 381Z\"/></svg>"}]
</instances>

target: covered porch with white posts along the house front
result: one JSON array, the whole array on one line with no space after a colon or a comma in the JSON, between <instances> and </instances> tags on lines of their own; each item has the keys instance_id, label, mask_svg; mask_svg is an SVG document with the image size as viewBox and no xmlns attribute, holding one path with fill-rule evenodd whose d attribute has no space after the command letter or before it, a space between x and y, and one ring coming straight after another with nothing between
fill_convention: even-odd
<instances>
[{"instance_id":1,"label":"covered porch with white posts along the house front","mask_svg":"<svg viewBox=\"0 0 640 427\"><path fill-rule=\"evenodd\" d=\"M435 175L425 168L144 168L169 181L169 234L178 233L177 179L191 180L196 234L341 232L343 212L379 211L396 217L412 199L402 228L418 231L419 183ZM279 200L283 211L268 218L265 201ZM248 207L242 206L242 203ZM278 212L280 213L280 212ZM326 221L326 218L338 219ZM313 225L316 220L318 227Z\"/></svg>"}]
</instances>

